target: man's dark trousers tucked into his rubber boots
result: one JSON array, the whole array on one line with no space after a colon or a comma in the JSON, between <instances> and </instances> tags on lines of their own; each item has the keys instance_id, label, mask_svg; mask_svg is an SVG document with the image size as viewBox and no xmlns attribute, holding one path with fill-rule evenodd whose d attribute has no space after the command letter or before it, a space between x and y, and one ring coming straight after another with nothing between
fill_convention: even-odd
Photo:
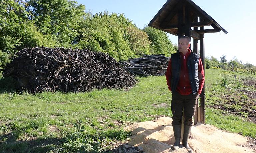
<instances>
[{"instance_id":1,"label":"man's dark trousers tucked into his rubber boots","mask_svg":"<svg viewBox=\"0 0 256 153\"><path fill-rule=\"evenodd\" d=\"M184 125L192 125L196 111L198 94L181 95L172 91L172 125L181 125L182 110L184 108Z\"/></svg>"}]
</instances>

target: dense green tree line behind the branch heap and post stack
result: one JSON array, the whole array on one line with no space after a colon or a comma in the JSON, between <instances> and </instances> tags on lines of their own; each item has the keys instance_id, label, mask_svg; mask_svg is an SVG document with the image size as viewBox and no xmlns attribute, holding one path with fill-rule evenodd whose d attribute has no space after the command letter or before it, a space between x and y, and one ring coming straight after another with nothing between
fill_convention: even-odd
<instances>
[{"instance_id":1,"label":"dense green tree line behind the branch heap and post stack","mask_svg":"<svg viewBox=\"0 0 256 153\"><path fill-rule=\"evenodd\" d=\"M176 52L165 32L139 29L124 14L92 14L72 0L1 0L0 68L30 47L89 48L116 60Z\"/></svg>"}]
</instances>

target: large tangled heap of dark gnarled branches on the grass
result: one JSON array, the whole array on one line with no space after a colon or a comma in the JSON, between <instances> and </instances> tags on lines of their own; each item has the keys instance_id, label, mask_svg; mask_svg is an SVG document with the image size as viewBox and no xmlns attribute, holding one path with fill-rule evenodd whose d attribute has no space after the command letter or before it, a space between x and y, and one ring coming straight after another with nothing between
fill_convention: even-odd
<instances>
[{"instance_id":1,"label":"large tangled heap of dark gnarled branches on the grass","mask_svg":"<svg viewBox=\"0 0 256 153\"><path fill-rule=\"evenodd\" d=\"M72 48L25 48L4 69L19 88L30 92L84 92L92 89L127 88L136 79L102 52Z\"/></svg>"}]
</instances>

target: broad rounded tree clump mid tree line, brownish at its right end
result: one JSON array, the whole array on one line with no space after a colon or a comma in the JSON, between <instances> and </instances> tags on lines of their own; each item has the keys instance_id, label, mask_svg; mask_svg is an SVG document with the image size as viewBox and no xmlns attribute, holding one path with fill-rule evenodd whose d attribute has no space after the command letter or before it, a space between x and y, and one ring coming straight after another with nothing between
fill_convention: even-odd
<instances>
[{"instance_id":1,"label":"broad rounded tree clump mid tree line, brownish at its right end","mask_svg":"<svg viewBox=\"0 0 256 153\"><path fill-rule=\"evenodd\" d=\"M102 51L117 60L149 53L150 42L146 33L139 30L123 14L109 14L106 11L95 15L87 14L78 31L76 47Z\"/></svg>"}]
</instances>

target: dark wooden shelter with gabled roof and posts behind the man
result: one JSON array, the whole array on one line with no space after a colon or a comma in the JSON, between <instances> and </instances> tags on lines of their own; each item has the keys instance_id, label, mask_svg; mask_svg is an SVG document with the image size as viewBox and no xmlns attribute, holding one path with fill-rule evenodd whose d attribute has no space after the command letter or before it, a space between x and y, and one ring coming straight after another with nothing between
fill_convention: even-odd
<instances>
[{"instance_id":1,"label":"dark wooden shelter with gabled roof and posts behind the man","mask_svg":"<svg viewBox=\"0 0 256 153\"><path fill-rule=\"evenodd\" d=\"M200 58L203 64L204 34L220 31L227 33L210 15L191 0L167 0L148 26L176 35L178 39L184 35L192 37L193 52L196 54L198 54L198 41L200 41ZM205 29L205 26L211 26L211 28ZM191 29L192 27L193 30ZM200 107L197 107L194 117L195 124L197 124L198 119L200 119L201 123L205 124L204 87L200 97Z\"/></svg>"}]
</instances>

